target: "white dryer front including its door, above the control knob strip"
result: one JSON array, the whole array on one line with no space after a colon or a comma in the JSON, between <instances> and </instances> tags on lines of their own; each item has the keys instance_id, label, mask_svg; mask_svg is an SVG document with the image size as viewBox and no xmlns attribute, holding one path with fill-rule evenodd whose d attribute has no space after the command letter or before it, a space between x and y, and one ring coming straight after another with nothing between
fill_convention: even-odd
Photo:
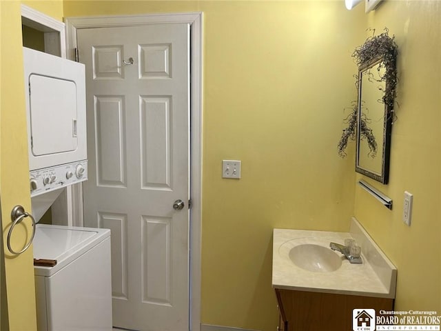
<instances>
[{"instance_id":1,"label":"white dryer front including its door, above the control knob strip","mask_svg":"<svg viewBox=\"0 0 441 331\"><path fill-rule=\"evenodd\" d=\"M24 47L23 63L30 170L87 159L85 66Z\"/></svg>"}]
</instances>

